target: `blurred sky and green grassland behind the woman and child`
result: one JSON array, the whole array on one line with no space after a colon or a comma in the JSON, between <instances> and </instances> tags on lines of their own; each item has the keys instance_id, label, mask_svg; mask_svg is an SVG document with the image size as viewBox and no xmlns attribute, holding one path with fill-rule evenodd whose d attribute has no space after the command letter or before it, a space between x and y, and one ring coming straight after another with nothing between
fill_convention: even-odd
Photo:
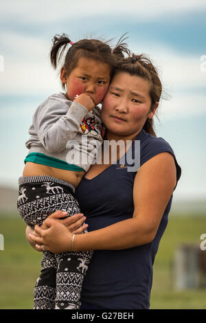
<instances>
[{"instance_id":1,"label":"blurred sky and green grassland behind the woman and child","mask_svg":"<svg viewBox=\"0 0 206 323\"><path fill-rule=\"evenodd\" d=\"M49 63L52 38L115 46L126 32L129 48L159 70L168 100L155 129L182 168L155 259L151 309L206 309L205 0L1 0L0 9L0 309L32 309L39 274L41 254L25 240L16 198L34 110L62 91Z\"/></svg>"}]
</instances>

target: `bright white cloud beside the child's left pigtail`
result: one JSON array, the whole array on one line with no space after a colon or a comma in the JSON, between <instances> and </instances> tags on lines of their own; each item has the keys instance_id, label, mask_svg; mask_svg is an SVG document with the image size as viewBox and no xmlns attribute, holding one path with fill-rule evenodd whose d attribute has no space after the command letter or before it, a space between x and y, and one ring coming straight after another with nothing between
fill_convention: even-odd
<instances>
[{"instance_id":1,"label":"bright white cloud beside the child's left pigtail","mask_svg":"<svg viewBox=\"0 0 206 323\"><path fill-rule=\"evenodd\" d=\"M1 94L39 94L60 89L58 71L49 62L52 42L15 32L0 32L5 49ZM8 41L9 39L9 41Z\"/></svg>"}]
</instances>

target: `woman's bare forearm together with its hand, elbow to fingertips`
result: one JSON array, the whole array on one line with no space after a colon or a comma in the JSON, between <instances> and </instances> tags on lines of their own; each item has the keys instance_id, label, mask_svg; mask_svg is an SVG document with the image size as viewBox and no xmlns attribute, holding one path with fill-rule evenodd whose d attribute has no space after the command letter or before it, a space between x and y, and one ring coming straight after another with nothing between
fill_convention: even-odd
<instances>
[{"instance_id":1,"label":"woman's bare forearm together with its hand, elbow to fingertips","mask_svg":"<svg viewBox=\"0 0 206 323\"><path fill-rule=\"evenodd\" d=\"M84 250L101 249L128 249L150 243L157 232L158 225L148 225L147 216L137 216L120 221L100 230L85 234L76 234L72 243L73 234L65 225L52 219L46 219L48 229L43 230L35 226L35 234L31 238L36 243L36 249L42 251L42 245L50 252L79 252ZM73 249L72 249L73 245Z\"/></svg>"}]
</instances>

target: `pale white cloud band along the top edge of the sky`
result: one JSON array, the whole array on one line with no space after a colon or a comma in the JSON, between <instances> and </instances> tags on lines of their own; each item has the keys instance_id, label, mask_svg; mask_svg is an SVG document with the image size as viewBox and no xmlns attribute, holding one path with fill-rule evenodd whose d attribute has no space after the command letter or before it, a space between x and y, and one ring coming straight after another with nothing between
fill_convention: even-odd
<instances>
[{"instance_id":1,"label":"pale white cloud band along the top edge of the sky","mask_svg":"<svg viewBox=\"0 0 206 323\"><path fill-rule=\"evenodd\" d=\"M138 20L157 20L164 14L191 12L206 8L205 0L1 0L0 19L18 19L22 22L58 22L76 15L95 16L102 14L123 14L134 16Z\"/></svg>"}]
</instances>

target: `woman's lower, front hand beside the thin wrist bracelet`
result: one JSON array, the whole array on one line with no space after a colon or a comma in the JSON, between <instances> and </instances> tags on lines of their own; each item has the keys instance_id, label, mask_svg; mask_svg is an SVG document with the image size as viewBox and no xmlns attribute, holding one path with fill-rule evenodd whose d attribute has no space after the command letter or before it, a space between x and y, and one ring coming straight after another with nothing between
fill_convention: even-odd
<instances>
[{"instance_id":1,"label":"woman's lower, front hand beside the thin wrist bracelet","mask_svg":"<svg viewBox=\"0 0 206 323\"><path fill-rule=\"evenodd\" d=\"M36 249L39 251L49 250L54 254L68 252L71 250L71 232L68 228L52 218L47 218L44 221L47 229L43 229L39 225L35 225L34 233L29 234L30 238L36 243Z\"/></svg>"}]
</instances>

